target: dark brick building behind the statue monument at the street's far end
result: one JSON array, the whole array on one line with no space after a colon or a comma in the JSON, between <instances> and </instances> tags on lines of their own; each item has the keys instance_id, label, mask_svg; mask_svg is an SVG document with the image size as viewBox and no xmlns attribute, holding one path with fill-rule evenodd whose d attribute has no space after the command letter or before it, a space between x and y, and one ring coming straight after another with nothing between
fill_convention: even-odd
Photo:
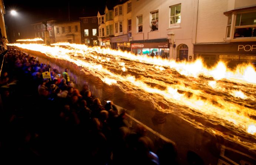
<instances>
[{"instance_id":1,"label":"dark brick building behind the statue monument at the street's far end","mask_svg":"<svg viewBox=\"0 0 256 165\"><path fill-rule=\"evenodd\" d=\"M53 24L56 22L56 20L42 20L37 23L31 24L33 27L31 36L33 36L34 38L42 38L43 40L45 39L45 25L43 24L44 21L47 21L47 31L49 31L50 34L50 43L55 43ZM44 43L44 41L40 43Z\"/></svg>"}]
</instances>

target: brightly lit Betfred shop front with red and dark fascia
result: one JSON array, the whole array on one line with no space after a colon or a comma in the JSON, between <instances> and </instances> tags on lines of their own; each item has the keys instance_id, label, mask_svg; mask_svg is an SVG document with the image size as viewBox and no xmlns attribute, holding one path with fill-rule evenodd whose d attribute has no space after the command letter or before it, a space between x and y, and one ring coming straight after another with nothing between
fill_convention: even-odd
<instances>
[{"instance_id":1,"label":"brightly lit Betfred shop front with red and dark fascia","mask_svg":"<svg viewBox=\"0 0 256 165\"><path fill-rule=\"evenodd\" d=\"M136 41L135 41L136 42ZM161 58L169 58L168 42L144 42L132 43L132 52L138 55L159 56Z\"/></svg>"}]
</instances>

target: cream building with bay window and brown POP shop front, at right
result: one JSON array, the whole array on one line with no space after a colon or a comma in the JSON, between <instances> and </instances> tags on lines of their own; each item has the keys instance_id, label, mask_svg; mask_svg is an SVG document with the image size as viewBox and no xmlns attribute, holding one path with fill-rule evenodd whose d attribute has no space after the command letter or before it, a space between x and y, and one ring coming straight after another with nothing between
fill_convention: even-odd
<instances>
[{"instance_id":1,"label":"cream building with bay window and brown POP shop front, at right","mask_svg":"<svg viewBox=\"0 0 256 165\"><path fill-rule=\"evenodd\" d=\"M256 1L200 0L194 54L208 65L256 63Z\"/></svg>"}]
</instances>

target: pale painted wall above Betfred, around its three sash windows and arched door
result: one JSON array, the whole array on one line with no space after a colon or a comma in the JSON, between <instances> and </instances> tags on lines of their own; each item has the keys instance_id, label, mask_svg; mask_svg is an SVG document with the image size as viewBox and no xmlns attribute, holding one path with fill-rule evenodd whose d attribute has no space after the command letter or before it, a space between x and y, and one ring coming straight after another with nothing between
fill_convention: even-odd
<instances>
[{"instance_id":1,"label":"pale painted wall above Betfred, around its three sash windows and arched door","mask_svg":"<svg viewBox=\"0 0 256 165\"><path fill-rule=\"evenodd\" d=\"M179 28L169 28L170 6L181 3L181 23ZM158 31L150 31L150 12L159 10ZM144 39L167 38L169 32L174 32L176 48L180 44L189 47L189 56L193 54L192 38L196 28L197 0L132 0L132 37L133 41ZM143 32L137 33L137 16L143 15Z\"/></svg>"}]
</instances>

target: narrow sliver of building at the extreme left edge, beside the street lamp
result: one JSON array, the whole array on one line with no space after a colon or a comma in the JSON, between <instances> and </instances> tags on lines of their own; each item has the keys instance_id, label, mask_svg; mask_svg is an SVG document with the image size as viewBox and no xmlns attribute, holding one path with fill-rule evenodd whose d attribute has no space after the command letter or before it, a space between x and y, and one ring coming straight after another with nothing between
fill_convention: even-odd
<instances>
[{"instance_id":1,"label":"narrow sliver of building at the extreme left edge, beside the street lamp","mask_svg":"<svg viewBox=\"0 0 256 165\"><path fill-rule=\"evenodd\" d=\"M8 43L8 40L7 40L7 35L6 35L5 23L4 23L4 14L6 14L6 13L5 13L3 0L0 1L0 11L1 11L1 17L0 17L0 30L1 30L0 45L1 45L1 48L0 49L7 49L6 44Z\"/></svg>"}]
</instances>

